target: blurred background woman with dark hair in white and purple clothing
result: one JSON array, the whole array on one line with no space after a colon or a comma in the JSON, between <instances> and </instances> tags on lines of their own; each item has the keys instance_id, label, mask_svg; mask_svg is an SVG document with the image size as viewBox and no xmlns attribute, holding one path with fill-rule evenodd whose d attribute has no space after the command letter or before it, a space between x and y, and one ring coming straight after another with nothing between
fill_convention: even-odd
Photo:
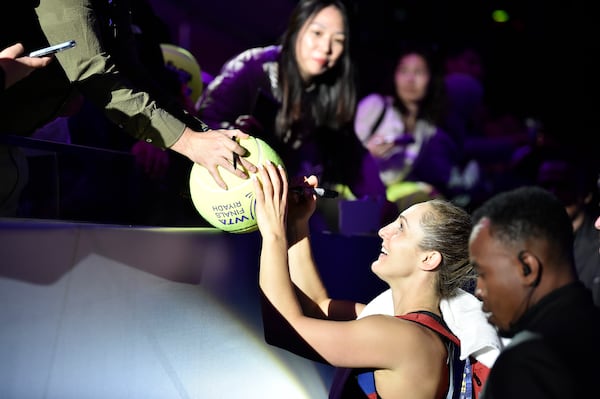
<instances>
[{"instance_id":1,"label":"blurred background woman with dark hair in white and purple clothing","mask_svg":"<svg viewBox=\"0 0 600 399\"><path fill-rule=\"evenodd\" d=\"M439 194L453 198L477 181L476 170L463 173L457 144L441 128L446 102L434 56L428 46L405 46L392 93L366 96L356 112L356 134L377 160L388 200L400 210Z\"/></svg>"}]
</instances>

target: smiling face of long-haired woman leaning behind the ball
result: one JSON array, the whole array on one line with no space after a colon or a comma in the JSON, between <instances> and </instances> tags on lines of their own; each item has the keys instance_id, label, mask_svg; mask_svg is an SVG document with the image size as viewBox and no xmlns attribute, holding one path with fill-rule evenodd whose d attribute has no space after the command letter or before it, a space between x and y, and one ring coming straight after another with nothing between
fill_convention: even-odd
<instances>
[{"instance_id":1,"label":"smiling face of long-haired woman leaning behind the ball","mask_svg":"<svg viewBox=\"0 0 600 399\"><path fill-rule=\"evenodd\" d=\"M306 21L298 33L296 61L305 82L331 69L344 52L344 18L328 6Z\"/></svg>"}]
</instances>

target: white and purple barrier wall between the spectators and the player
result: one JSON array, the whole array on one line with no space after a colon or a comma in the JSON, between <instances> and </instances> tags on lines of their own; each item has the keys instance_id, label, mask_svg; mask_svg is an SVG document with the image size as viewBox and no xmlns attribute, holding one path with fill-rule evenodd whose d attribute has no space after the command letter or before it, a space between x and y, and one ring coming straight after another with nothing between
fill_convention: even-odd
<instances>
[{"instance_id":1,"label":"white and purple barrier wall between the spectators and the player","mask_svg":"<svg viewBox=\"0 0 600 399\"><path fill-rule=\"evenodd\" d=\"M374 237L317 235L332 294L368 300ZM0 397L327 398L332 369L267 345L260 236L0 219ZM358 288L357 288L358 287Z\"/></svg>"}]
</instances>

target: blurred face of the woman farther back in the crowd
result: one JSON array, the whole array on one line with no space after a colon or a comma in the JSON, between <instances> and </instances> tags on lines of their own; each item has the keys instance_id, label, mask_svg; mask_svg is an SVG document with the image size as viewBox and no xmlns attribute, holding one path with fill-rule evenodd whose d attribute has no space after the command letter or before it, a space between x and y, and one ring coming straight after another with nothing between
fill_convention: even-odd
<instances>
[{"instance_id":1,"label":"blurred face of the woman farther back in the crowd","mask_svg":"<svg viewBox=\"0 0 600 399\"><path fill-rule=\"evenodd\" d=\"M398 97L405 103L421 101L427 93L430 78L425 58L418 54L403 56L394 74Z\"/></svg>"}]
</instances>

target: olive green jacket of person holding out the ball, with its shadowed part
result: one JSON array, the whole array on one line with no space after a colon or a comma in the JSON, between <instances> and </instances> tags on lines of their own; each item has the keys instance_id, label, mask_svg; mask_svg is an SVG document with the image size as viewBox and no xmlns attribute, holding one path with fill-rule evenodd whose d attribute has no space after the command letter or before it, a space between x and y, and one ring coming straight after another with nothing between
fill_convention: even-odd
<instances>
[{"instance_id":1,"label":"olive green jacket of person holding out the ball, with its shadowed part","mask_svg":"<svg viewBox=\"0 0 600 399\"><path fill-rule=\"evenodd\" d=\"M108 2L42 0L40 3L35 8L9 6L16 9L2 17L2 44L6 47L19 41L27 52L71 39L77 45L56 54L56 60L48 67L34 71L2 93L0 131L30 134L68 112L73 100L82 95L104 109L111 121L136 139L158 147L172 146L183 134L187 114L173 107L167 111L116 66L103 37L107 19L102 18L97 8Z\"/></svg>"}]
</instances>

